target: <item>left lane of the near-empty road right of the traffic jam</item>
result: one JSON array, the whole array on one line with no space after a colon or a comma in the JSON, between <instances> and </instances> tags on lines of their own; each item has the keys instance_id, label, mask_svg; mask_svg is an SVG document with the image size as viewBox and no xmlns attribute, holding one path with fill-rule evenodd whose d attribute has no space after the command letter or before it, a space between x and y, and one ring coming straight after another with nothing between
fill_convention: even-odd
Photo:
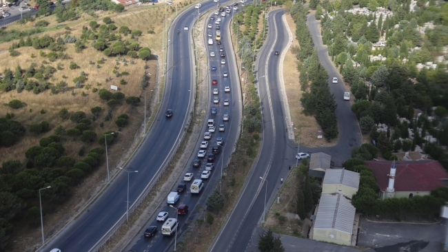
<instances>
[{"instance_id":1,"label":"left lane of the near-empty road right of the traffic jam","mask_svg":"<svg viewBox=\"0 0 448 252\"><path fill-rule=\"evenodd\" d=\"M273 28L273 32L269 32L267 35L267 41L265 45L273 45L275 41L275 25L274 22L268 20L269 24ZM265 63L262 64L263 66ZM260 67L258 72L258 76L264 74L265 75L265 67ZM259 177L263 177L265 173L265 169L260 169L258 167L269 166L272 162L272 149L275 148L275 138L272 132L274 131L274 125L271 120L271 112L269 109L269 98L267 97L267 88L265 78L259 78L258 80L258 92L260 96L261 102L261 111L263 113L263 143L261 146L261 152L256 159L256 163L252 168L252 172L250 172L250 176L246 179L245 185L243 187L243 191L241 192L241 198L238 199L234 210L230 213L230 217L223 229L221 229L221 233L218 233L218 236L215 238L214 244L210 247L209 251L214 251L216 248L226 248L225 251L234 251L230 250L231 246L234 242L235 237L239 235L243 235L241 233L241 226L243 220L246 218L248 211L250 211L250 207L253 204L254 196L256 195L258 189L261 187L262 180Z\"/></svg>"}]
</instances>

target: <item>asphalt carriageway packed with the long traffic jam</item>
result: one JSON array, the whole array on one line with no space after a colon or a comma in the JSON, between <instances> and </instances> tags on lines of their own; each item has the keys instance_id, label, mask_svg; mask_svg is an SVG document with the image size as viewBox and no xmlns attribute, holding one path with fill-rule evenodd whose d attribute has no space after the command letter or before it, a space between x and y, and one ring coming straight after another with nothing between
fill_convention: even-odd
<instances>
[{"instance_id":1,"label":"asphalt carriageway packed with the long traffic jam","mask_svg":"<svg viewBox=\"0 0 448 252\"><path fill-rule=\"evenodd\" d=\"M223 3L221 1L221 3ZM213 2L207 2L202 3L201 12L213 8L216 6L216 3ZM214 161L215 168L212 171L212 175L208 179L203 179L203 182L205 183L205 186L201 193L198 195L192 195L190 193L190 185L192 184L192 181L186 182L187 184L187 190L181 194L181 198L179 201L174 204L174 207L179 206L179 204L187 204L189 207L189 211L185 216L178 216L179 219L179 228L178 228L178 241L181 240L181 235L187 230L188 225L185 224L186 222L192 222L198 218L198 212L196 211L196 207L198 205L205 206L205 202L207 200L207 196L212 193L214 187L217 184L219 178L221 177L221 167L226 166L227 163L230 161L230 155L232 154L234 150L234 144L236 143L236 140L238 138L238 129L241 123L241 90L238 86L238 72L236 68L236 59L234 56L234 53L232 51L232 42L230 41L230 21L232 20L232 14L226 14L225 17L221 17L221 14L219 16L215 16L212 14L212 17L214 17L215 20L210 20L209 17L207 17L207 22L211 23L213 28L205 28L205 46L207 49L207 55L208 55L208 63L209 63L209 74L207 78L204 80L209 84L210 87L210 95L209 95L209 101L210 105L207 107L207 114L208 116L206 119L214 119L215 126L216 126L216 132L212 133L212 138L210 140L207 140L209 142L209 145L207 147L207 154L212 153L212 145L216 143L217 137L223 137L224 142L224 154L218 154L216 156L216 160ZM214 41L213 45L207 45L208 36L207 34L209 32L212 33L212 39L214 40L214 35L216 32L216 25L214 22L218 17L221 17L223 21L221 21L221 37L222 37L222 45L217 45L216 41ZM182 19L183 22L185 22L185 19ZM174 38L176 38L176 35L174 35ZM221 58L219 52L220 48L223 49L223 52L225 54L225 57ZM214 52L216 56L211 57L210 52ZM221 59L225 59L226 63L221 64ZM215 66L216 71L211 71L211 67ZM229 74L228 77L223 77L223 72L227 72ZM216 79L218 81L217 85L212 85L212 79ZM201 80L200 80L201 81ZM230 92L224 92L224 87L229 86ZM219 94L218 95L212 95L213 88L218 88ZM215 104L212 103L212 97L218 97L220 98L220 103ZM224 106L223 100L229 99L230 105ZM210 109L214 107L217 109L217 114L212 115L210 114ZM223 114L229 114L230 120L227 122L223 121ZM225 125L225 132L218 132L218 125ZM203 141L203 134L205 132L208 132L208 127L206 125L203 125L203 130L201 132L201 138L198 139L198 143L196 143L196 150L199 150L199 145L201 141ZM202 158L202 164L201 167L192 167L192 160L197 159L196 151L194 152L194 156L190 158L190 160L187 162L186 167L184 168L183 172L191 172L194 174L193 179L199 179L201 178L202 171L205 170L205 164L206 159ZM201 158L200 158L201 159ZM176 191L177 185L183 182L183 176L179 178L178 183L173 185L171 191ZM169 213L168 218L176 218L176 209L173 209L169 207L166 204L166 201L164 200L162 204L158 207L156 214L150 218L142 227L141 232L137 234L132 241L130 241L129 245L126 247L126 249L132 250L132 251L172 251L174 248L174 237L164 236L161 233L161 227L163 225L163 222L157 222L156 221L156 215L160 211L166 211ZM158 232L156 235L152 238L145 238L143 236L143 232L145 231L146 227L149 226L156 226L158 227ZM174 236L174 235L173 235Z\"/></svg>"}]
</instances>

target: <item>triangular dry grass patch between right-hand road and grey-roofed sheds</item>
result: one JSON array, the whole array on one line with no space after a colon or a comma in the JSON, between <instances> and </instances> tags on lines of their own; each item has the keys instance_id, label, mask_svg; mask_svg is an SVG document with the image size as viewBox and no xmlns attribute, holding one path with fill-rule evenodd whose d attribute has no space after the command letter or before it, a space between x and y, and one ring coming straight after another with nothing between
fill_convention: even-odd
<instances>
[{"instance_id":1,"label":"triangular dry grass patch between right-hand road and grey-roofed sheds","mask_svg":"<svg viewBox=\"0 0 448 252\"><path fill-rule=\"evenodd\" d=\"M290 218L296 212L296 191L300 182L297 172L297 167L293 167L292 171L289 172L289 176L285 179L275 197L280 197L280 203L272 202L266 213L266 221L263 224L263 228L270 229L274 233L301 237L303 222L298 220L298 218Z\"/></svg>"}]
</instances>

